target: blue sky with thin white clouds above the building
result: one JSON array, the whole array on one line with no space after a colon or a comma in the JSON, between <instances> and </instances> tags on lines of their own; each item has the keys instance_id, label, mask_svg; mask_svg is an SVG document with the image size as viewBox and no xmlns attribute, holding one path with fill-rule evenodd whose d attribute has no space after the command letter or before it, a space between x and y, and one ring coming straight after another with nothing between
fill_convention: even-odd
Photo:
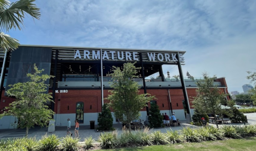
<instances>
[{"instance_id":1,"label":"blue sky with thin white clouds above the building","mask_svg":"<svg viewBox=\"0 0 256 151\"><path fill-rule=\"evenodd\" d=\"M14 1L11 1L14 2ZM41 19L27 17L8 34L22 45L186 51L183 73L226 77L243 92L256 72L256 1L37 0ZM177 66L164 66L177 75Z\"/></svg>"}]
</instances>

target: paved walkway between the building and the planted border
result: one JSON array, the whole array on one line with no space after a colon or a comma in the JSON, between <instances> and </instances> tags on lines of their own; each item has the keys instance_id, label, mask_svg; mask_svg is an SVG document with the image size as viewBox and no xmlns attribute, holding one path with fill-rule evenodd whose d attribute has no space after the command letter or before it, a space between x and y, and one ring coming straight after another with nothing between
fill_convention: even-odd
<instances>
[{"instance_id":1,"label":"paved walkway between the building and the planted border","mask_svg":"<svg viewBox=\"0 0 256 151\"><path fill-rule=\"evenodd\" d=\"M245 114L247 116L248 119L248 123L246 123L246 125L251 125L251 124L256 124L256 113L249 113L249 114ZM187 124L186 121L180 121L181 122L181 126L176 126L176 127L165 127L165 128L152 128L150 130L150 132L154 132L154 131L161 131L162 133L166 133L166 131L171 130L175 131L175 130L182 130L183 127L191 127L191 128L199 128L201 126L195 126L195 125L190 125ZM216 126L215 124L210 124L213 126ZM224 125L244 125L244 123L231 123L230 121L228 122L228 124L224 124ZM222 125L220 125L221 127ZM113 127L115 127L115 129L117 130L118 134L122 133L122 124L113 124ZM35 137L37 139L41 139L42 136L44 135L51 135L51 134L55 134L58 137L65 137L67 134L66 131L66 126L62 126L62 127L55 127L55 132L53 133L48 133L48 128L47 127L34 127L31 128L29 130L28 133L28 137ZM74 133L74 126L71 126L71 132ZM6 139L6 138L18 138L18 137L24 137L26 133L25 129L7 129L7 130L0 130L0 139ZM97 140L100 136L100 132L97 132L96 130L90 130L90 126L89 125L85 125L85 126L80 126L80 130L79 130L79 137L81 138L80 141L84 141L84 139L88 136L92 136L92 138L94 138L95 140ZM74 134L73 134L74 136Z\"/></svg>"}]
</instances>

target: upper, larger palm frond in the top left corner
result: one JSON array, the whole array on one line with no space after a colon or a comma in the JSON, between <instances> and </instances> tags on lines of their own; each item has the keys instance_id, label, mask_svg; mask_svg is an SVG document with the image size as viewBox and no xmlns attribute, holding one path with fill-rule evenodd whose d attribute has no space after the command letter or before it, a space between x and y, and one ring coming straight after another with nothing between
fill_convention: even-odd
<instances>
[{"instance_id":1,"label":"upper, larger palm frond in the top left corner","mask_svg":"<svg viewBox=\"0 0 256 151\"><path fill-rule=\"evenodd\" d=\"M1 0L3 1L3 0ZM30 14L33 18L40 19L40 9L33 4L35 0L20 0L11 3L9 8L0 12L0 29L8 31L9 29L22 29L23 18L25 13Z\"/></svg>"}]
</instances>

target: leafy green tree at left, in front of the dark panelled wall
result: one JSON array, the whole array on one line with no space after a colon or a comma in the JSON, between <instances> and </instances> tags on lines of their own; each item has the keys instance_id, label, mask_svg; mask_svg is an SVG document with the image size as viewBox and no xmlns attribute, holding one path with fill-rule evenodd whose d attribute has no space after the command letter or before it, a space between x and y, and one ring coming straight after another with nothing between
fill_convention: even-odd
<instances>
[{"instance_id":1,"label":"leafy green tree at left, in front of the dark panelled wall","mask_svg":"<svg viewBox=\"0 0 256 151\"><path fill-rule=\"evenodd\" d=\"M51 93L46 93L49 84L45 84L45 81L53 76L42 74L44 70L38 70L35 64L34 71L33 74L27 74L30 78L28 82L9 85L11 88L6 93L16 100L6 107L7 111L4 114L0 115L17 117L19 126L26 127L26 136L30 127L34 124L47 125L47 121L51 120L54 114L45 105L47 101L52 101Z\"/></svg>"}]
</instances>

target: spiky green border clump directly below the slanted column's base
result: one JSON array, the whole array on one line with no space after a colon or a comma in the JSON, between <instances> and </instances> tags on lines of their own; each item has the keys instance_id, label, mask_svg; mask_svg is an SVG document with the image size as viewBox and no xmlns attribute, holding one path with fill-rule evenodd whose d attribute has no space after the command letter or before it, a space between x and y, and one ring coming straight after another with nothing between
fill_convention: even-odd
<instances>
[{"instance_id":1,"label":"spiky green border clump directly below the slanted column's base","mask_svg":"<svg viewBox=\"0 0 256 151\"><path fill-rule=\"evenodd\" d=\"M187 142L201 142L199 136L192 128L187 127L182 129L184 140Z\"/></svg>"}]
</instances>

